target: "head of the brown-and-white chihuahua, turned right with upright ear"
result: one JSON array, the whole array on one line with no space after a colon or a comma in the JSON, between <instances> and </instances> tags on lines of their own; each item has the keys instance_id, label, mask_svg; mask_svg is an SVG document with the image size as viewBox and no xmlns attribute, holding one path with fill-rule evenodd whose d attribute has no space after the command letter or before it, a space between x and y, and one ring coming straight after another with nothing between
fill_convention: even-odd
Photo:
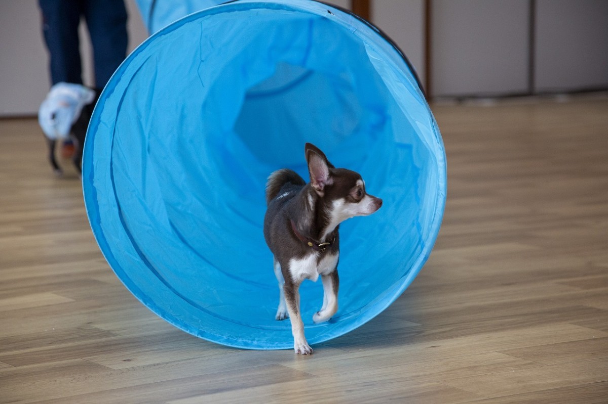
<instances>
[{"instance_id":1,"label":"head of the brown-and-white chihuahua, turned right with upright ear","mask_svg":"<svg viewBox=\"0 0 608 404\"><path fill-rule=\"evenodd\" d=\"M382 200L367 194L365 181L359 173L337 169L313 144L306 143L305 153L310 184L317 195L316 203L322 204L321 210L330 227L351 217L371 215L380 209Z\"/></svg>"}]
</instances>

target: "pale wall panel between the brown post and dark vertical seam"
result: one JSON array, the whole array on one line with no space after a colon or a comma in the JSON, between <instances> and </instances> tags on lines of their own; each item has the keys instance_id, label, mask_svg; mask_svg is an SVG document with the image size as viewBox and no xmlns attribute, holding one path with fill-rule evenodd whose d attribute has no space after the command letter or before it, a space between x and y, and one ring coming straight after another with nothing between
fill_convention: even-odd
<instances>
[{"instance_id":1,"label":"pale wall panel between the brown post and dark vertical seam","mask_svg":"<svg viewBox=\"0 0 608 404\"><path fill-rule=\"evenodd\" d=\"M434 0L433 96L528 90L529 0Z\"/></svg>"}]
</instances>

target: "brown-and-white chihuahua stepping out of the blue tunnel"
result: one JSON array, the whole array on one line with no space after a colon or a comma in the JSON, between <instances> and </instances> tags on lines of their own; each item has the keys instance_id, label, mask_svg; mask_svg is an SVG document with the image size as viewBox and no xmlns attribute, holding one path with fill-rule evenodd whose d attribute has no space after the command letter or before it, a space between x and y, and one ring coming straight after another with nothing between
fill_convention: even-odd
<instances>
[{"instance_id":1,"label":"brown-and-white chihuahua stepping out of the blue tunnel","mask_svg":"<svg viewBox=\"0 0 608 404\"><path fill-rule=\"evenodd\" d=\"M313 349L306 342L300 314L299 288L303 280L323 283L323 305L315 323L329 320L338 309L340 253L338 227L355 216L367 216L382 206L380 198L365 192L359 173L334 167L316 146L306 143L310 181L293 170L277 170L266 183L267 210L264 238L274 255L278 281L277 320L291 320L296 354Z\"/></svg>"}]
</instances>

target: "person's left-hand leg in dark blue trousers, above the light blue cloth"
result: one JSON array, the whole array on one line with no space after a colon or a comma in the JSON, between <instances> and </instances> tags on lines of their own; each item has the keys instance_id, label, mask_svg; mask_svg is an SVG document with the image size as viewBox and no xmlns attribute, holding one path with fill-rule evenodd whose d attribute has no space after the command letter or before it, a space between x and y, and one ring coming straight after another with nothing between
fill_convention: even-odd
<instances>
[{"instance_id":1,"label":"person's left-hand leg in dark blue trousers, above the light blue cloth","mask_svg":"<svg viewBox=\"0 0 608 404\"><path fill-rule=\"evenodd\" d=\"M52 84L82 84L80 62L81 2L77 0L38 0L43 18L43 34L50 54Z\"/></svg>"}]
</instances>

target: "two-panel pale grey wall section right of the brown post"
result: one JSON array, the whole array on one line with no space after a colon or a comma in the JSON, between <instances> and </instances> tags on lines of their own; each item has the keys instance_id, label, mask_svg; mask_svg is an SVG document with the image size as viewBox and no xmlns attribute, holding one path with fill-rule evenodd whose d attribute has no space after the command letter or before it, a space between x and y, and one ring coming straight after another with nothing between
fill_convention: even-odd
<instances>
[{"instance_id":1,"label":"two-panel pale grey wall section right of the brown post","mask_svg":"<svg viewBox=\"0 0 608 404\"><path fill-rule=\"evenodd\" d=\"M432 0L432 5L434 97L608 87L606 0L537 0L533 72L530 0Z\"/></svg>"}]
</instances>

